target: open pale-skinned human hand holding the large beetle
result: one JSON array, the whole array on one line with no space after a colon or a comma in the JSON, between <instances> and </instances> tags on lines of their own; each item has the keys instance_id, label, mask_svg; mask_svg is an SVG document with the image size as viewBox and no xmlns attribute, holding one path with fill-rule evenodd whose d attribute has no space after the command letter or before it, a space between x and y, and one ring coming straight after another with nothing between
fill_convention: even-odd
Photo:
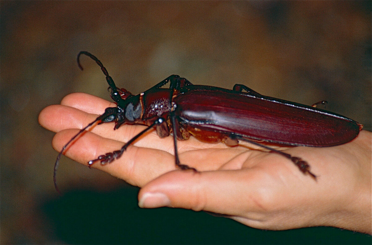
<instances>
[{"instance_id":1,"label":"open pale-skinned human hand holding the large beetle","mask_svg":"<svg viewBox=\"0 0 372 245\"><path fill-rule=\"evenodd\" d=\"M56 132L52 145L60 151L78 129L94 121L113 102L93 95L67 95L61 105L41 111L40 124ZM119 150L145 128L113 123L93 127L64 153L87 165L99 155ZM203 143L191 137L177 141L182 164L174 164L173 138L155 131L129 146L120 159L92 167L141 187L139 206L162 206L220 213L247 226L285 230L334 226L372 233L371 132L334 147L280 147L306 160L317 176L303 174L291 161L275 153L223 143ZM275 146L272 146L275 147Z\"/></svg>"}]
</instances>

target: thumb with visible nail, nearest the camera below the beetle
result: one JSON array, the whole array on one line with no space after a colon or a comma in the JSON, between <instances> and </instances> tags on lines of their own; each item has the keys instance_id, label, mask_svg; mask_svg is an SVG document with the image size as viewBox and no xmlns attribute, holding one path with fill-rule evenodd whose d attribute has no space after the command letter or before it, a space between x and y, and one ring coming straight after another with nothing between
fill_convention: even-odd
<instances>
[{"instance_id":1,"label":"thumb with visible nail, nearest the camera below the beetle","mask_svg":"<svg viewBox=\"0 0 372 245\"><path fill-rule=\"evenodd\" d=\"M250 183L253 183L250 175L241 170L171 171L142 187L138 205L141 208L168 206L237 215L242 209L257 208L249 194Z\"/></svg>"}]
</instances>

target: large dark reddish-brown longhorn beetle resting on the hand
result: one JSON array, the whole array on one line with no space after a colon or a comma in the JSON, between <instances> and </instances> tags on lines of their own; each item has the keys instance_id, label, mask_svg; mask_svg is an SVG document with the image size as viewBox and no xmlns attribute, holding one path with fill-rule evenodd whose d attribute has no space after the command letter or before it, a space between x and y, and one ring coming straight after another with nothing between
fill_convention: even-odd
<instances>
[{"instance_id":1,"label":"large dark reddish-brown longhorn beetle resting on the hand","mask_svg":"<svg viewBox=\"0 0 372 245\"><path fill-rule=\"evenodd\" d=\"M173 135L176 166L181 169L196 169L181 164L177 152L177 140L186 140L191 135L201 141L224 142L238 145L239 140L266 148L291 160L304 174L316 179L310 165L299 157L276 150L257 141L266 141L288 146L327 147L353 140L363 125L342 115L303 105L296 102L259 94L242 84L233 89L194 85L186 78L171 75L146 91L133 95L126 89L118 89L103 64L89 52L81 51L101 68L109 84L110 97L116 107L106 108L102 115L81 129L65 144L57 156L54 167L54 185L57 167L66 147L94 123L115 122L114 130L123 124L143 124L148 127L135 135L120 150L103 154L88 162L104 165L122 156L126 148L142 134L156 129L160 138ZM169 88L162 88L166 84ZM244 92L243 92L244 91Z\"/></svg>"}]
</instances>

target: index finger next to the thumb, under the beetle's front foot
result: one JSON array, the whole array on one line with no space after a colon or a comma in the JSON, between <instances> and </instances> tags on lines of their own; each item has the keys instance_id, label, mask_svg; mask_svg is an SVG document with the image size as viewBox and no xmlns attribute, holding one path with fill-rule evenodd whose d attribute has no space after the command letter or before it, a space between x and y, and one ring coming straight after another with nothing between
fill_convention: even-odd
<instances>
[{"instance_id":1,"label":"index finger next to the thumb, under the beetle's front foot","mask_svg":"<svg viewBox=\"0 0 372 245\"><path fill-rule=\"evenodd\" d=\"M66 140L70 139L76 132L77 130L63 130L57 133L52 141L53 147L57 151L60 150ZM122 146L123 143L120 141L110 140L87 132L71 144L64 151L64 155L87 166L88 161L97 159L102 154L119 150ZM172 154L135 146L129 146L119 159L111 163L101 165L97 162L92 167L121 178L135 186L143 186L155 177L176 168Z\"/></svg>"}]
</instances>

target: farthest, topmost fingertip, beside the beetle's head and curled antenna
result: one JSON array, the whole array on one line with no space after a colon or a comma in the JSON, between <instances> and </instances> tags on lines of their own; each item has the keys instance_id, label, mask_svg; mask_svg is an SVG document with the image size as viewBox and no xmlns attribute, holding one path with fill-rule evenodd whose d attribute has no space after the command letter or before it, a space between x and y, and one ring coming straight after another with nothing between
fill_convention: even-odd
<instances>
[{"instance_id":1,"label":"farthest, topmost fingertip, beside the beetle's head and curled antenna","mask_svg":"<svg viewBox=\"0 0 372 245\"><path fill-rule=\"evenodd\" d=\"M68 94L62 99L61 105L97 115L103 114L108 107L116 107L114 102L85 93Z\"/></svg>"}]
</instances>

